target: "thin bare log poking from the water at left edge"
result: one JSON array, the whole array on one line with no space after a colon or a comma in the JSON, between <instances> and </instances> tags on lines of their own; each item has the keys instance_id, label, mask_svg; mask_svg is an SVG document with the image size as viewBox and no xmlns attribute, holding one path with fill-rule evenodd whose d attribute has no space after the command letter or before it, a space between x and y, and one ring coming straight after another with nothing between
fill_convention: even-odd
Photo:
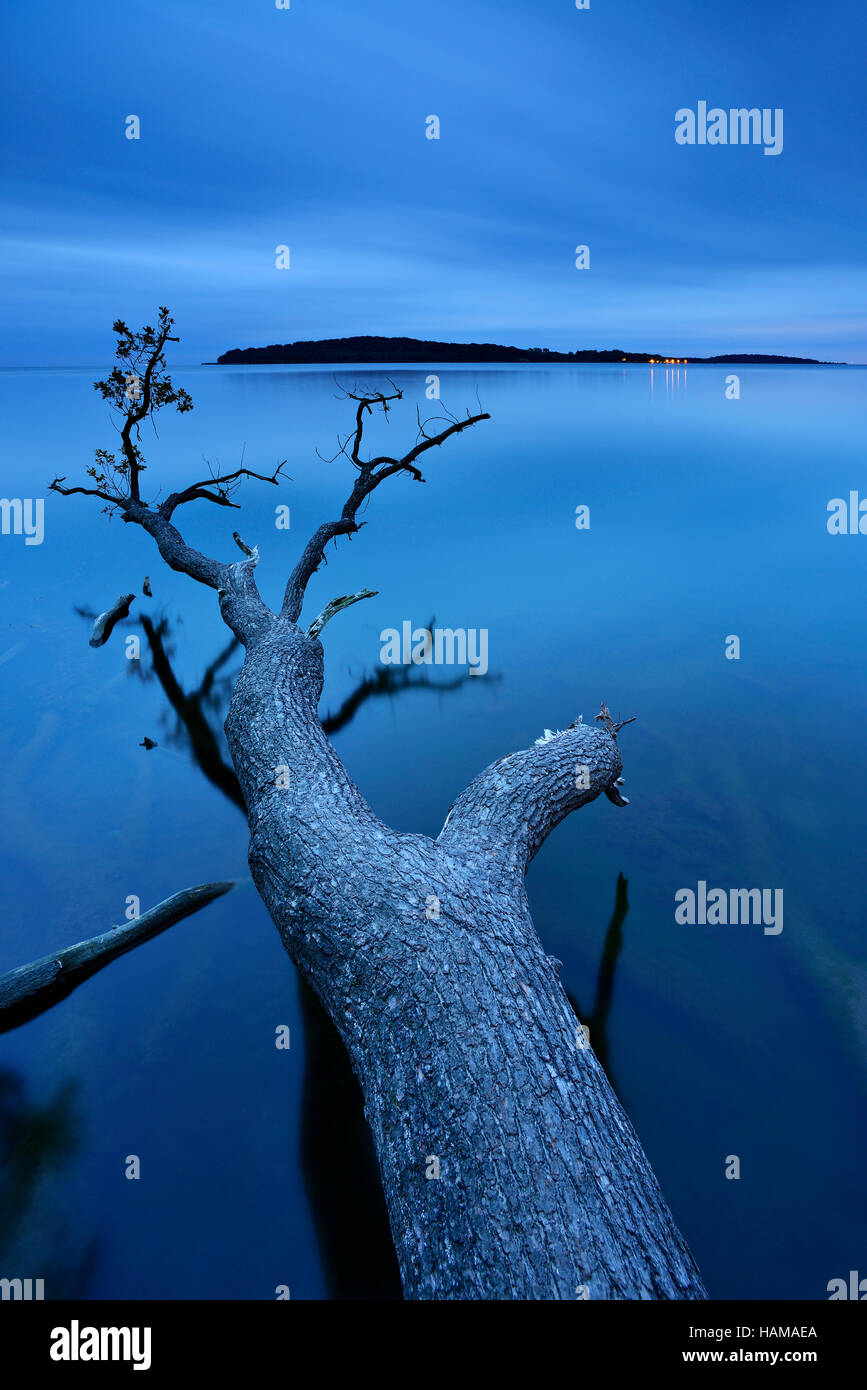
<instances>
[{"instance_id":1,"label":"thin bare log poking from the water at left edge","mask_svg":"<svg viewBox=\"0 0 867 1390\"><path fill-rule=\"evenodd\" d=\"M29 1023L36 1015L44 1013L60 999L65 999L83 980L101 970L110 960L132 951L165 931L167 927L189 917L192 912L206 908L214 898L221 898L235 887L235 881L203 883L196 888L183 888L171 898L149 908L140 917L111 927L99 937L78 941L54 955L42 956L21 965L17 970L0 976L0 1033L8 1033L22 1023Z\"/></svg>"}]
</instances>

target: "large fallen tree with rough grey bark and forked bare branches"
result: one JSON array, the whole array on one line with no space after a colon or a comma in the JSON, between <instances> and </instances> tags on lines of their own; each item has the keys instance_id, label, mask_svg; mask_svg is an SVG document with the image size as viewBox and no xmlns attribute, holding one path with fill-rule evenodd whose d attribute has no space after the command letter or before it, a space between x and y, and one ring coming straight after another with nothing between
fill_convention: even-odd
<instances>
[{"instance_id":1,"label":"large fallen tree with rough grey bark and forked bare branches","mask_svg":"<svg viewBox=\"0 0 867 1390\"><path fill-rule=\"evenodd\" d=\"M118 332L119 368L99 389L119 410L122 457L97 453L94 486L143 527L174 570L215 589L245 648L225 734L250 827L250 869L283 945L333 1019L360 1080L407 1298L704 1298L638 1137L585 1037L531 920L528 865L564 816L604 792L621 755L609 712L499 759L457 798L436 840L374 815L322 731L321 631L302 607L325 548L352 537L388 478L489 416L418 425L399 457L364 457L364 427L402 392L347 392L354 430L339 452L354 484L304 546L274 612L258 550L210 559L174 523L181 505L233 506L238 470L144 502L138 431L158 404L189 409L165 373L172 320ZM138 357L136 357L138 354ZM122 386L144 361L146 400ZM133 371L135 374L135 371ZM349 596L349 602L367 591ZM285 770L289 770L286 776ZM438 1165L432 1161L438 1159ZM428 1176L439 1168L439 1177ZM579 1293L581 1290L581 1293Z\"/></svg>"}]
</instances>

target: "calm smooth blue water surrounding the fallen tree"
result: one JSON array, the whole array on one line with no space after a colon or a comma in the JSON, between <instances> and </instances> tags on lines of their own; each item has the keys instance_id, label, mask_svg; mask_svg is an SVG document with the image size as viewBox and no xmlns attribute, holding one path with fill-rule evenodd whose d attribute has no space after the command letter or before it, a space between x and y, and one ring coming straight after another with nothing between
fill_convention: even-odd
<instances>
[{"instance_id":1,"label":"calm smooth blue water surrounding the fallen tree","mask_svg":"<svg viewBox=\"0 0 867 1390\"><path fill-rule=\"evenodd\" d=\"M589 1009L625 876L606 1055L707 1286L825 1298L829 1279L867 1273L867 537L825 525L831 498L867 496L867 370L390 368L406 402L371 431L377 452L408 448L434 371L446 406L477 409L478 391L493 418L428 455L424 486L386 484L315 577L310 617L336 594L379 591L325 632L322 712L381 670L379 632L404 620L486 628L496 680L367 699L335 744L386 821L436 834L482 766L545 727L592 720L602 699L638 716L620 735L631 805L603 798L553 834L529 876L535 922ZM725 399L729 373L739 400ZM111 448L90 386L101 374L0 374L3 495L82 481L93 449ZM168 491L242 450L257 471L286 459L292 482L249 484L240 514L178 514L220 556L233 527L257 542L276 603L347 491L349 464L315 455L349 428L346 402L314 368L175 379L196 409L143 439L143 484ZM153 599L132 617L165 617L189 692L228 639L213 595L82 498L49 493L44 542L0 537L0 562L1 972L122 920L131 894L146 908L247 869L243 817L193 760L147 644L140 662L124 656L142 628L92 651L75 612L149 574ZM731 634L739 660L724 655ZM201 705L217 731L226 694L217 684ZM158 748L139 748L144 735ZM702 878L782 888L782 933L675 924L674 894ZM289 1051L274 1047L279 1024ZM304 1093L311 1036L295 967L239 888L0 1037L0 1275L46 1277L49 1295L327 1297L311 1169L328 1166L325 1208L328 1191L357 1207L363 1158L324 1062ZM318 1134L306 1170L303 1115L307 1141ZM364 1227L345 1244L364 1280Z\"/></svg>"}]
</instances>

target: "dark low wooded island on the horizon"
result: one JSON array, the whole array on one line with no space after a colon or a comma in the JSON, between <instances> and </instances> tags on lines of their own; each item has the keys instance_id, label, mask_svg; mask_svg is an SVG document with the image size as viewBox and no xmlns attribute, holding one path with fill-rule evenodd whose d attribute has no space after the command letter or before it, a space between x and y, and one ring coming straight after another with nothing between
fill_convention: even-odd
<instances>
[{"instance_id":1,"label":"dark low wooded island on the horizon","mask_svg":"<svg viewBox=\"0 0 867 1390\"><path fill-rule=\"evenodd\" d=\"M845 367L817 357L785 357L777 353L720 353L714 357L674 357L664 353L604 350L552 352L547 348L506 348L502 343L449 343L424 338L320 338L268 348L231 348L203 367L232 366L365 366L379 363L643 363L646 366L750 366Z\"/></svg>"}]
</instances>

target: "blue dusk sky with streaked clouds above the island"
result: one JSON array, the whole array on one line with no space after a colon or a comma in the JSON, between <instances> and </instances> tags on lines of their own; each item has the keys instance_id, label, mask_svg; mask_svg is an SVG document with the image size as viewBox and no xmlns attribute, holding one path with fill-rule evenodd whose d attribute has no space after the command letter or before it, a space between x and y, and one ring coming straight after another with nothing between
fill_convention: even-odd
<instances>
[{"instance_id":1,"label":"blue dusk sky with streaked clouds above the island","mask_svg":"<svg viewBox=\"0 0 867 1390\"><path fill-rule=\"evenodd\" d=\"M352 334L867 361L854 0L47 0L3 33L3 366L103 363L161 303L178 361ZM678 146L699 100L782 107L782 153Z\"/></svg>"}]
</instances>

